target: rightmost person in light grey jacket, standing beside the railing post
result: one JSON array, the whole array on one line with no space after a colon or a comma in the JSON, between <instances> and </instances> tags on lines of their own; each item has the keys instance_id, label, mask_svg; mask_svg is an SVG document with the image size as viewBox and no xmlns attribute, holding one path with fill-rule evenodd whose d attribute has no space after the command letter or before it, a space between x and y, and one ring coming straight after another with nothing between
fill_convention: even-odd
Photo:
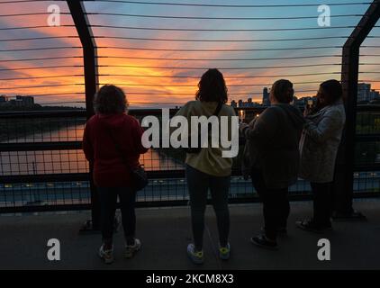
<instances>
[{"instance_id":1,"label":"rightmost person in light grey jacket, standing beside the railing post","mask_svg":"<svg viewBox=\"0 0 380 288\"><path fill-rule=\"evenodd\" d=\"M312 219L296 222L301 229L317 232L331 229L331 189L346 121L342 94L339 81L325 81L320 85L315 107L304 112L300 176L312 186L314 212Z\"/></svg>"}]
</instances>

